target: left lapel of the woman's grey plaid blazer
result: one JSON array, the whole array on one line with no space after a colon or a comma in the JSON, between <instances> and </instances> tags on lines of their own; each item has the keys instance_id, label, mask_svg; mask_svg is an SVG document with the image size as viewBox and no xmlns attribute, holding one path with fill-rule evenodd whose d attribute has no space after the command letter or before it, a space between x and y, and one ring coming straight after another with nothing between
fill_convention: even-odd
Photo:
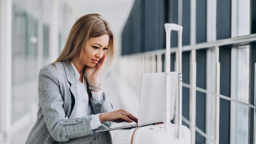
<instances>
[{"instance_id":1,"label":"left lapel of the woman's grey plaid blazer","mask_svg":"<svg viewBox=\"0 0 256 144\"><path fill-rule=\"evenodd\" d=\"M66 71L67 80L70 83L70 92L73 94L75 98L75 105L69 117L76 117L76 109L77 109L77 85L76 85L76 76L74 68L71 65L70 61L62 62Z\"/></svg>"}]
</instances>

